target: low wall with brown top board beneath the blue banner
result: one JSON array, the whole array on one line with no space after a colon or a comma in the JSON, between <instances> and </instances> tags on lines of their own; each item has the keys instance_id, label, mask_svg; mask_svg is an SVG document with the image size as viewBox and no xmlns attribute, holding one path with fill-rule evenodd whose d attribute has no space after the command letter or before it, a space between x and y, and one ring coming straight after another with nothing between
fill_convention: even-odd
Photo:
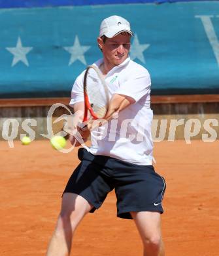
<instances>
[{"instance_id":1,"label":"low wall with brown top board beneath the blue banner","mask_svg":"<svg viewBox=\"0 0 219 256\"><path fill-rule=\"evenodd\" d=\"M35 120L32 123L35 126L31 126L31 129L35 131L35 138L44 139L41 134L47 133L48 111L52 104L58 102L67 106L73 113L68 106L69 98L0 100L0 139L5 137L3 125L6 129L5 122L8 119L12 123L16 119L13 123L15 129L18 127L18 131L15 133L17 134L16 139L20 139L20 134L25 133L22 125L28 123L27 119ZM155 141L163 139L173 141L185 139L185 137L187 139L203 139L203 135L211 137L211 133L214 134L214 137L216 133L217 139L219 137L219 95L152 96L151 108L154 111L152 135ZM69 115L69 112L63 106L56 108L52 116L52 123L62 114ZM10 123L9 135L12 132L12 123ZM61 127L63 127L63 120L52 124L54 133L60 131ZM198 129L199 133L197 133ZM191 136L194 134L195 136Z\"/></svg>"}]
</instances>

